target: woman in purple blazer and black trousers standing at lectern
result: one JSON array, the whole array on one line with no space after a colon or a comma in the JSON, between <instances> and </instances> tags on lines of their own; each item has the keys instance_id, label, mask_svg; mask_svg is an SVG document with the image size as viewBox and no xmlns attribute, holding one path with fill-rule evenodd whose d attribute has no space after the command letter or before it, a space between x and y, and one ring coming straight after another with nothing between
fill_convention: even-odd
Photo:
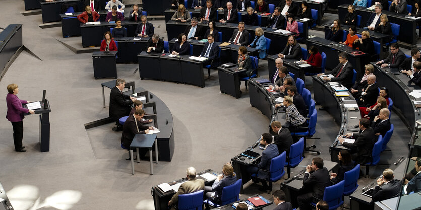
<instances>
[{"instance_id":1,"label":"woman in purple blazer and black trousers standing at lectern","mask_svg":"<svg viewBox=\"0 0 421 210\"><path fill-rule=\"evenodd\" d=\"M25 146L22 146L23 138L23 113L35 114L31 109L25 109L22 104L31 103L30 101L20 100L17 96L19 93L18 85L12 83L7 86L8 94L6 96L7 114L6 118L12 123L13 142L15 143L15 151L26 152Z\"/></svg>"}]
</instances>

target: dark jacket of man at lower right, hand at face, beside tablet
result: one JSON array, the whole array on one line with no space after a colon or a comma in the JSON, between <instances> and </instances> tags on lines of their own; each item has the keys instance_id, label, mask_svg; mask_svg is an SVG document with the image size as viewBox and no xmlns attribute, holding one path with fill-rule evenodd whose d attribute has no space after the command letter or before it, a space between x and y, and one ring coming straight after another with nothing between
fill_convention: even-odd
<instances>
[{"instance_id":1,"label":"dark jacket of man at lower right, hand at face, beside tablet","mask_svg":"<svg viewBox=\"0 0 421 210\"><path fill-rule=\"evenodd\" d=\"M399 195L400 187L401 183L396 179L393 179L382 186L376 185L371 195L372 203L397 197Z\"/></svg>"}]
</instances>

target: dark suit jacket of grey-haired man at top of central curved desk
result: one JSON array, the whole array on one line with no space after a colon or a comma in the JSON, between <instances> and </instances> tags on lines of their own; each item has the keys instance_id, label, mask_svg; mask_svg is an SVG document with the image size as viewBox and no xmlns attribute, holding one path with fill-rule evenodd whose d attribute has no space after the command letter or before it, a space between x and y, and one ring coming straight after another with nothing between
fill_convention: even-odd
<instances>
[{"instance_id":1,"label":"dark suit jacket of grey-haired man at top of central curved desk","mask_svg":"<svg viewBox=\"0 0 421 210\"><path fill-rule=\"evenodd\" d=\"M114 86L109 94L109 118L119 120L121 117L127 116L132 108L130 105L133 103L129 99L128 95L123 94Z\"/></svg>"}]
</instances>

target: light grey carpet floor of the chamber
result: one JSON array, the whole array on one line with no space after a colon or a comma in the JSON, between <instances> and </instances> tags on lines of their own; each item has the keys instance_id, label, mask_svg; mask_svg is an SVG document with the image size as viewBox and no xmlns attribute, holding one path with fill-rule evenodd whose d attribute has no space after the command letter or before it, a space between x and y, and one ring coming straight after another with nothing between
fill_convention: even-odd
<instances>
[{"instance_id":1,"label":"light grey carpet floor of the chamber","mask_svg":"<svg viewBox=\"0 0 421 210\"><path fill-rule=\"evenodd\" d=\"M135 164L132 175L127 151L119 146L121 133L111 131L113 124L85 130L84 124L108 116L109 89L105 91L107 107L102 106L101 83L110 79L93 77L91 54L74 54L56 39L62 38L61 28L41 29L41 15L23 16L22 1L2 1L8 8L0 14L8 24L23 24L23 43L39 60L22 52L0 81L6 95L6 86L19 85L19 98L40 100L42 90L47 90L50 101L51 132L50 152L40 153L36 115L24 119L24 145L26 153L13 149L12 126L6 119L0 123L0 182L17 210L27 209L153 209L151 187L185 176L189 166L198 171L220 170L232 157L242 152L268 131L269 119L250 106L248 92L242 84L240 99L221 94L218 77L206 80L206 87L140 80L133 73L137 64L117 64L118 77L134 80L136 87L143 87L158 96L169 107L174 118L175 153L171 162L154 164L154 175L149 175L149 162ZM162 21L157 29L166 36ZM311 31L311 34L321 32ZM72 40L80 40L73 37ZM259 60L259 73L267 77L267 64ZM312 90L311 79L306 87ZM0 98L0 116L6 116L5 97ZM317 107L319 108L319 107ZM407 154L410 134L402 121L393 116L395 133L389 143L392 151L382 153L382 162L393 162ZM329 145L339 126L324 111L318 111L315 137L319 157L329 160ZM312 143L309 140L308 143ZM293 169L296 173L311 162L315 154L307 154L302 164ZM372 176L380 174L387 166L371 169ZM286 177L286 176L285 176ZM285 178L284 177L284 178ZM274 184L279 189L281 179ZM359 180L360 186L371 179ZM258 193L259 185L248 183L245 194ZM271 199L271 195L263 193ZM346 200L346 203L349 201ZM266 209L273 209L269 206Z\"/></svg>"}]
</instances>

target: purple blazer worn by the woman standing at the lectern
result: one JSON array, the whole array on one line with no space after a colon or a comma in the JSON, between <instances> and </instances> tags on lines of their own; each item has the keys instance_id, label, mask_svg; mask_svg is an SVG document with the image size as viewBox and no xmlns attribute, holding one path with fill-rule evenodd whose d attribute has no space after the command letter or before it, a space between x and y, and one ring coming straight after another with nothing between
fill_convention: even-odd
<instances>
[{"instance_id":1,"label":"purple blazer worn by the woman standing at the lectern","mask_svg":"<svg viewBox=\"0 0 421 210\"><path fill-rule=\"evenodd\" d=\"M22 121L24 118L23 113L29 112L29 109L22 107L22 104L26 103L28 102L25 100L20 100L17 95L8 93L6 96L6 104L8 107L6 118L11 122Z\"/></svg>"}]
</instances>

